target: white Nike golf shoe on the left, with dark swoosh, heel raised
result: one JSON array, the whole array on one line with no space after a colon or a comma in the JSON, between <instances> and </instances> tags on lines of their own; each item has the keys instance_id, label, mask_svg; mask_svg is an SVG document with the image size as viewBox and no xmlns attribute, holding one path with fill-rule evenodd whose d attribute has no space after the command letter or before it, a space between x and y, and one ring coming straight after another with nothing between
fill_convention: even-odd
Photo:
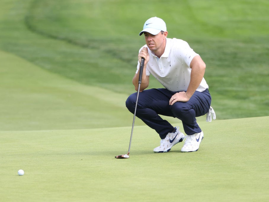
<instances>
[{"instance_id":1,"label":"white Nike golf shoe on the left, with dark swoosh, heel raised","mask_svg":"<svg viewBox=\"0 0 269 202\"><path fill-rule=\"evenodd\" d=\"M169 152L175 144L182 142L184 137L185 135L176 127L176 131L174 133L168 133L164 139L161 139L161 145L153 149L153 152Z\"/></svg>"}]
</instances>

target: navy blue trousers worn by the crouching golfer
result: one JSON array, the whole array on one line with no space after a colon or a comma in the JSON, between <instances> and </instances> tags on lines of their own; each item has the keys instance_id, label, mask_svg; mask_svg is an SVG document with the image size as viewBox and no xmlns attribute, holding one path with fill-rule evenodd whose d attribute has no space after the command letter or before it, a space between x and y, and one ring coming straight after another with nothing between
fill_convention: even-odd
<instances>
[{"instance_id":1,"label":"navy blue trousers worn by the crouching golfer","mask_svg":"<svg viewBox=\"0 0 269 202\"><path fill-rule=\"evenodd\" d=\"M211 96L206 89L204 92L195 91L188 102L176 102L169 105L170 98L177 92L166 88L148 89L139 93L136 117L154 129L164 139L167 133L174 131L174 127L159 115L176 117L182 121L187 135L200 133L201 128L196 122L196 117L209 111ZM134 114L137 92L131 94L126 100L126 107Z\"/></svg>"}]
</instances>

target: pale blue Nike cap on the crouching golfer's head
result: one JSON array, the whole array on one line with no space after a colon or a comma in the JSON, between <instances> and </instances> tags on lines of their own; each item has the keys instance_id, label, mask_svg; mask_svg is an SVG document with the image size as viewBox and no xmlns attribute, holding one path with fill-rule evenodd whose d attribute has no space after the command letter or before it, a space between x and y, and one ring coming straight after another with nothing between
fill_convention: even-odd
<instances>
[{"instance_id":1,"label":"pale blue Nike cap on the crouching golfer's head","mask_svg":"<svg viewBox=\"0 0 269 202\"><path fill-rule=\"evenodd\" d=\"M139 33L139 36L141 36L144 32L156 35L160 31L166 31L166 24L161 18L153 17L145 22L143 30Z\"/></svg>"}]
</instances>

